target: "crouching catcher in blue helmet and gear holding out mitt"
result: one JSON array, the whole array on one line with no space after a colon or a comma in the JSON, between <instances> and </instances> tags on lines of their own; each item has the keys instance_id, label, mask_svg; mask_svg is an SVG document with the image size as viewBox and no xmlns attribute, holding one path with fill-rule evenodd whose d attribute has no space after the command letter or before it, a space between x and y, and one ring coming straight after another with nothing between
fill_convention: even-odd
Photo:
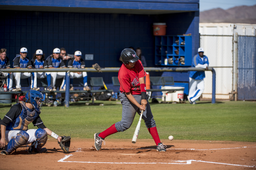
<instances>
[{"instance_id":1,"label":"crouching catcher in blue helmet and gear holding out mitt","mask_svg":"<svg viewBox=\"0 0 256 170\"><path fill-rule=\"evenodd\" d=\"M24 100L25 102L18 102L12 106L0 122L0 148L4 149L1 154L11 154L22 145L30 143L28 153L45 153L47 149L43 146L47 142L48 135L57 139L64 153L68 153L70 137L56 135L45 127L39 116L44 100L43 94L36 90L29 90ZM31 122L38 129L28 129L28 124Z\"/></svg>"}]
</instances>

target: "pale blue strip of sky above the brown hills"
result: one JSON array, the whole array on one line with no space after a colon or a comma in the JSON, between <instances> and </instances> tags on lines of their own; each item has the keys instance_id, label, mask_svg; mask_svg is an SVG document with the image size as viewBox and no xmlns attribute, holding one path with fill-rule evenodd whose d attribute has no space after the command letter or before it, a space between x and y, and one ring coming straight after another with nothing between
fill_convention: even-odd
<instances>
[{"instance_id":1,"label":"pale blue strip of sky above the brown hills","mask_svg":"<svg viewBox=\"0 0 256 170\"><path fill-rule=\"evenodd\" d=\"M242 5L256 5L256 0L200 0L200 12L214 8L222 8L227 10L229 8Z\"/></svg>"}]
</instances>

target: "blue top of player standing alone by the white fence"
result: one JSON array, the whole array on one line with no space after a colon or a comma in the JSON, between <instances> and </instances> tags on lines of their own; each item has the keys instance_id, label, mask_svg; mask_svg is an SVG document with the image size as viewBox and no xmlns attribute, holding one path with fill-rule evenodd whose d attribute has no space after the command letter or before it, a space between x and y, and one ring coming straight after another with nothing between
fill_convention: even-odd
<instances>
[{"instance_id":1,"label":"blue top of player standing alone by the white fence","mask_svg":"<svg viewBox=\"0 0 256 170\"><path fill-rule=\"evenodd\" d=\"M192 60L192 67L196 67L197 64L208 64L208 57L204 55L204 57L200 57L199 54L195 55L193 60ZM203 80L205 78L205 73L204 71L190 71L189 74L190 78L194 78L195 80Z\"/></svg>"}]
</instances>

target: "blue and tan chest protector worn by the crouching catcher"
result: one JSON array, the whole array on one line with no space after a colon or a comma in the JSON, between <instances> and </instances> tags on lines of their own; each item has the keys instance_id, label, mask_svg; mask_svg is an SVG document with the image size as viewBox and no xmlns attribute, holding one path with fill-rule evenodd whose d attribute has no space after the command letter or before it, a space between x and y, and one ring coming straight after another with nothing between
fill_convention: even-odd
<instances>
[{"instance_id":1,"label":"blue and tan chest protector worn by the crouching catcher","mask_svg":"<svg viewBox=\"0 0 256 170\"><path fill-rule=\"evenodd\" d=\"M36 117L39 116L40 113L36 112L35 110L29 111L28 107L26 107L26 104L22 101L19 102L22 106L22 111L18 117L14 119L14 121L10 122L6 126L6 130L27 130L28 129L28 124L33 122Z\"/></svg>"}]
</instances>

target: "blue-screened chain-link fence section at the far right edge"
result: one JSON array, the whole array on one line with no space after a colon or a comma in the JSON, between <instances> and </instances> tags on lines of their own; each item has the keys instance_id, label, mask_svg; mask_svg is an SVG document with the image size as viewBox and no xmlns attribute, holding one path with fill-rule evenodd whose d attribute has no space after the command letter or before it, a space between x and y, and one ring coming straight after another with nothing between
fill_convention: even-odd
<instances>
[{"instance_id":1,"label":"blue-screened chain-link fence section at the far right edge","mask_svg":"<svg viewBox=\"0 0 256 170\"><path fill-rule=\"evenodd\" d=\"M256 100L255 49L255 36L238 36L238 100Z\"/></svg>"}]
</instances>

